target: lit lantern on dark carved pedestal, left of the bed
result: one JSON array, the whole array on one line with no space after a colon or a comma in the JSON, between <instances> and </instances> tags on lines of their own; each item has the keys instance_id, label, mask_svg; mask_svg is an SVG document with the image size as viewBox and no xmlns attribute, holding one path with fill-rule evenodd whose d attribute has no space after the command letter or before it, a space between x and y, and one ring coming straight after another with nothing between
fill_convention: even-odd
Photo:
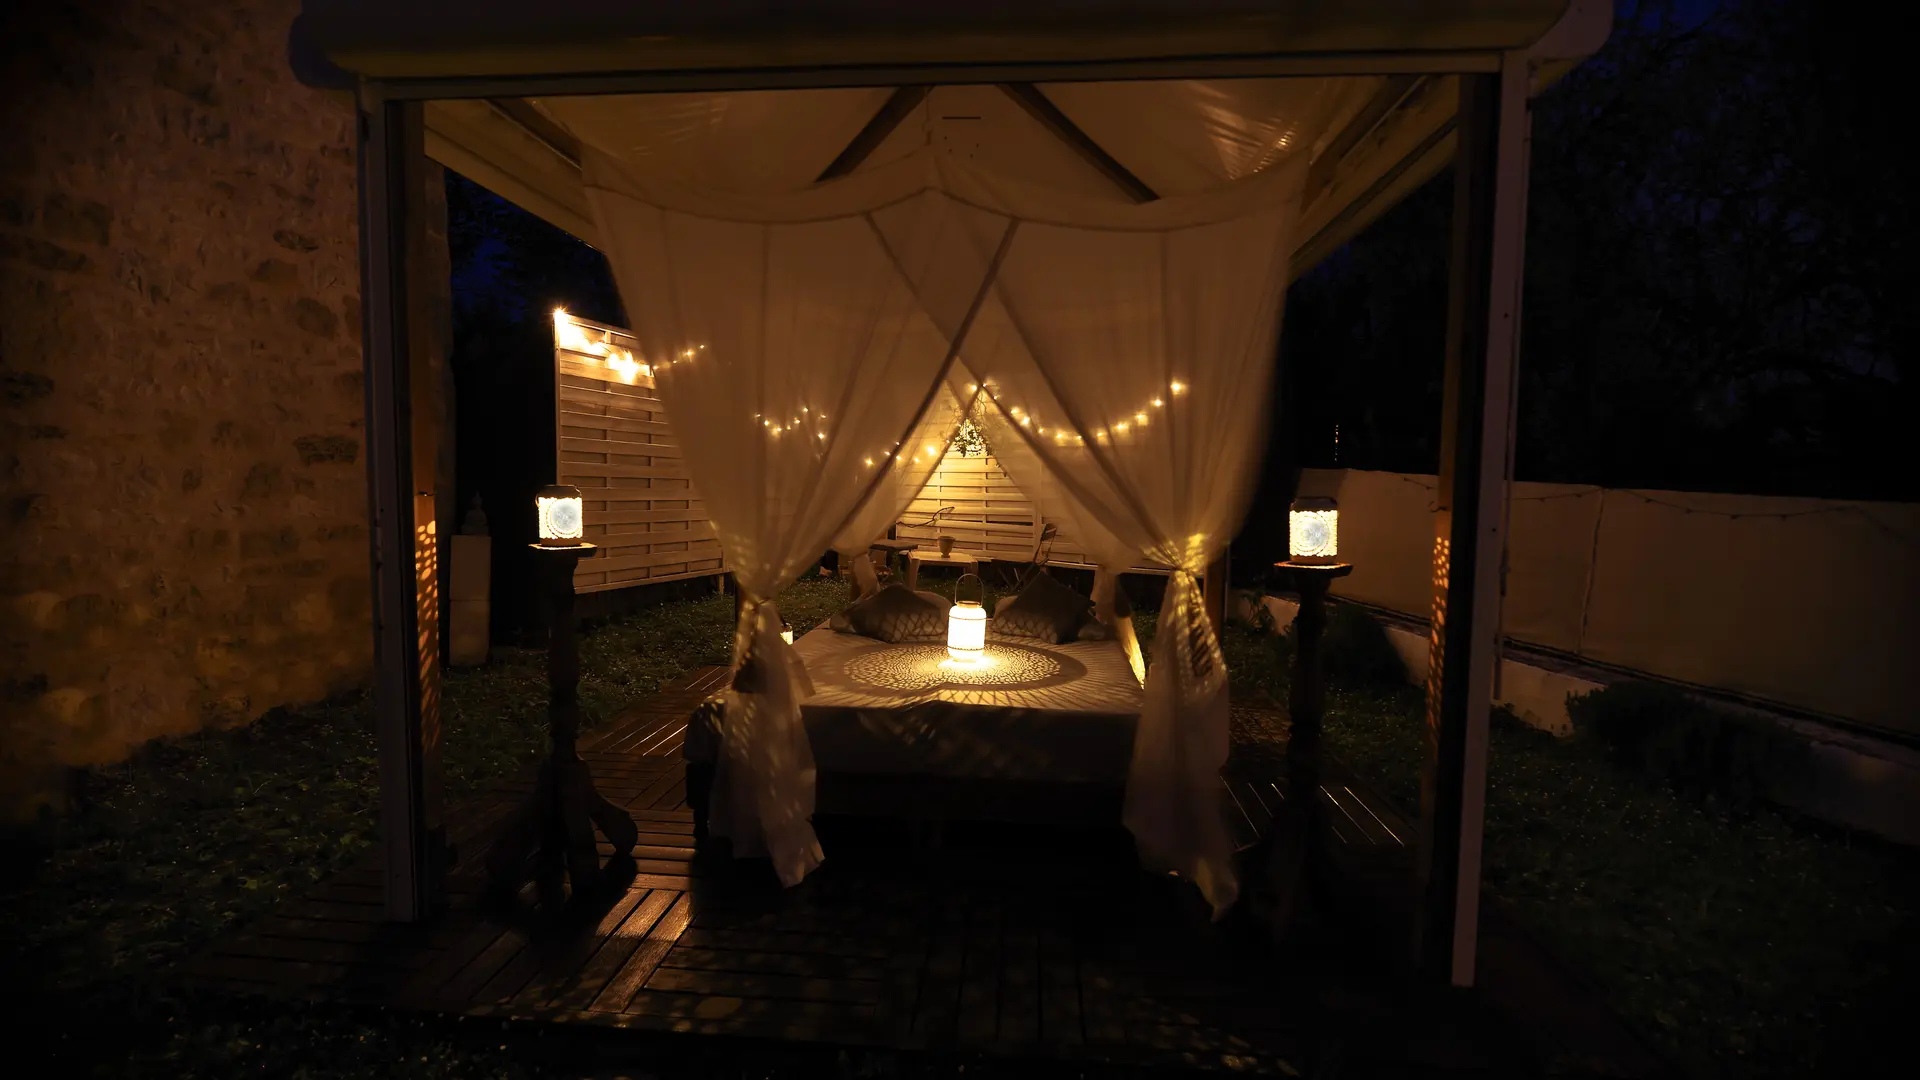
<instances>
[{"instance_id":1,"label":"lit lantern on dark carved pedestal, left of the bed","mask_svg":"<svg viewBox=\"0 0 1920 1080\"><path fill-rule=\"evenodd\" d=\"M557 882L564 872L574 896L597 884L601 863L593 828L607 836L614 855L639 840L632 815L593 788L593 774L576 751L580 734L580 646L574 636L574 567L593 555L584 540L580 490L541 488L540 544L534 563L549 600L547 636L547 736L551 749L540 767L534 794L513 811L488 853L493 886L518 892L528 880Z\"/></svg>"}]
</instances>

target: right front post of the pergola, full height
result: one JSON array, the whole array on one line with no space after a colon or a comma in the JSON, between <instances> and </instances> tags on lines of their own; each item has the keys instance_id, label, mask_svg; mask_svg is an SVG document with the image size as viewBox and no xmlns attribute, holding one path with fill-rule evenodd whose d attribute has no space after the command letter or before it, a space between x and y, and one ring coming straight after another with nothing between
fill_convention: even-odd
<instances>
[{"instance_id":1,"label":"right front post of the pergola, full height","mask_svg":"<svg viewBox=\"0 0 1920 1080\"><path fill-rule=\"evenodd\" d=\"M1475 982L1515 323L1524 258L1528 65L1459 77L1415 957Z\"/></svg>"}]
</instances>

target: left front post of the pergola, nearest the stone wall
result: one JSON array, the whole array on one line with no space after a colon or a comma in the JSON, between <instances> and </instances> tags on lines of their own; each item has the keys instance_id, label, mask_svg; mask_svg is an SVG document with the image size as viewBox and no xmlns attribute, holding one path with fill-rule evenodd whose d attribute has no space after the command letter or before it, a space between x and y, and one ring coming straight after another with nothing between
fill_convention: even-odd
<instances>
[{"instance_id":1,"label":"left front post of the pergola, nearest the stone wall","mask_svg":"<svg viewBox=\"0 0 1920 1080\"><path fill-rule=\"evenodd\" d=\"M445 892L440 773L440 394L419 365L432 334L420 281L426 167L417 102L359 110L367 492L372 546L374 717L386 917L417 922ZM424 369L422 369L424 367Z\"/></svg>"}]
</instances>

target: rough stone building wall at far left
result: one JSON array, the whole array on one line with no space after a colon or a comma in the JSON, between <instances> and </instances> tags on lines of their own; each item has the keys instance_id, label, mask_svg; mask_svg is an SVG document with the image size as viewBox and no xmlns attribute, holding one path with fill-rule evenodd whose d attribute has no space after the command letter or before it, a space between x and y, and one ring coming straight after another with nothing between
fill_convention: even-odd
<instances>
[{"instance_id":1,"label":"rough stone building wall at far left","mask_svg":"<svg viewBox=\"0 0 1920 1080\"><path fill-rule=\"evenodd\" d=\"M0 799L371 671L353 106L298 0L0 15Z\"/></svg>"}]
</instances>

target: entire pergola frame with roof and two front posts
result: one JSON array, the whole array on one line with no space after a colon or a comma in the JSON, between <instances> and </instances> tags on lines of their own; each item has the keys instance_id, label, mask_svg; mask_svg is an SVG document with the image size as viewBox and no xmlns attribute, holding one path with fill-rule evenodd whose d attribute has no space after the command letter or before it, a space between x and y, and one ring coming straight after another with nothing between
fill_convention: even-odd
<instances>
[{"instance_id":1,"label":"entire pergola frame with roof and two front posts","mask_svg":"<svg viewBox=\"0 0 1920 1080\"><path fill-rule=\"evenodd\" d=\"M1089 198L1150 202L1210 169L1235 177L1290 156L1306 171L1292 275L1453 163L1417 940L1430 974L1471 986L1528 100L1597 50L1609 23L1605 0L476 0L459 15L424 0L307 0L296 69L355 88L361 110L388 917L428 917L445 861L434 465L413 438L420 396L438 392L422 375L420 169L438 160L601 246L582 161L632 154L647 123L672 140L649 94L774 92L753 100L772 102L778 123L722 146L732 158L714 165L739 186L854 173L912 138L914 115L924 138L935 121L979 121L996 133L981 154L1052 160L1058 183ZM1183 121L1206 138L1179 144ZM1142 133L1188 152L1154 152Z\"/></svg>"}]
</instances>

